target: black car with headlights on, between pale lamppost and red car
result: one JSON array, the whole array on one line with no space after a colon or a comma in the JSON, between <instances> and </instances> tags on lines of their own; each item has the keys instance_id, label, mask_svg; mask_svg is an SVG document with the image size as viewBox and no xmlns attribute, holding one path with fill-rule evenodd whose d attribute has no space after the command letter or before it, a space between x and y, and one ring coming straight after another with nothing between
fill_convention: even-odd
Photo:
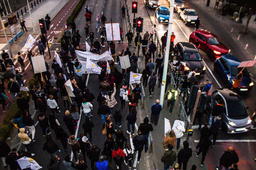
<instances>
[{"instance_id":1,"label":"black car with headlights on, between pale lamppost and red car","mask_svg":"<svg viewBox=\"0 0 256 170\"><path fill-rule=\"evenodd\" d=\"M204 76L205 65L195 45L189 42L179 42L174 48L175 55L186 63L185 70L194 69L196 76Z\"/></svg>"}]
</instances>

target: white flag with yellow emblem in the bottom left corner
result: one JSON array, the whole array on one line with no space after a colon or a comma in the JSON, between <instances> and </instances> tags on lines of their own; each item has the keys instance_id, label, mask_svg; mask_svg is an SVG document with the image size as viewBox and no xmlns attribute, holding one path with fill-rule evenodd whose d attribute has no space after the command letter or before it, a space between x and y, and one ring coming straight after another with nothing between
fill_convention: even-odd
<instances>
[{"instance_id":1,"label":"white flag with yellow emblem in the bottom left corner","mask_svg":"<svg viewBox=\"0 0 256 170\"><path fill-rule=\"evenodd\" d=\"M30 168L31 170L38 170L42 167L34 160L29 157L22 157L16 160L21 169Z\"/></svg>"}]
</instances>

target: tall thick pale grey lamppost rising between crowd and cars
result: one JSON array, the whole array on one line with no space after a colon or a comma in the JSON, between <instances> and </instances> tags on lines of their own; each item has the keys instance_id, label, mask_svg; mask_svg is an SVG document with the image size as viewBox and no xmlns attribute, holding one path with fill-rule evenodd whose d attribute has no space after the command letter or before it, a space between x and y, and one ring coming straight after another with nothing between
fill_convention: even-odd
<instances>
[{"instance_id":1,"label":"tall thick pale grey lamppost rising between crowd and cars","mask_svg":"<svg viewBox=\"0 0 256 170\"><path fill-rule=\"evenodd\" d=\"M169 59L170 44L171 44L170 41L171 41L172 21L173 21L173 6L174 6L174 0L171 1L171 10L170 10L170 17L169 17L169 24L168 24L167 43L166 43L166 49L165 49L165 55L164 55L164 70L163 70L162 87L161 87L161 94L160 94L160 104L162 106L164 104L164 90L165 90L165 86L166 86L168 59Z\"/></svg>"}]
</instances>

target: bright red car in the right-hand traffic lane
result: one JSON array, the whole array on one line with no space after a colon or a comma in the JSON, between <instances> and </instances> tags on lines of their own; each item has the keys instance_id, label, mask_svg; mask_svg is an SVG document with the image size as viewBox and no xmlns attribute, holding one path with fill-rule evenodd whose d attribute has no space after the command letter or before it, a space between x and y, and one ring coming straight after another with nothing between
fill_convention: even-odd
<instances>
[{"instance_id":1,"label":"bright red car in the right-hand traffic lane","mask_svg":"<svg viewBox=\"0 0 256 170\"><path fill-rule=\"evenodd\" d=\"M196 39L200 43L200 49L207 52L208 57L221 57L223 54L227 54L230 50L223 43L220 42L220 39L212 34L209 31L203 29L197 29L192 32L189 36L189 42L195 43Z\"/></svg>"}]
</instances>

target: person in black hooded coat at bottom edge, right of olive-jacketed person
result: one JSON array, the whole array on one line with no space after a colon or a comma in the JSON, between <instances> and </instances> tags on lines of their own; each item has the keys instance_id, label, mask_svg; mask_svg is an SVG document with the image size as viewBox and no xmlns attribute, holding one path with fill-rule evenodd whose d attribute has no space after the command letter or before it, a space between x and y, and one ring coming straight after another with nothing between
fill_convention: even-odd
<instances>
[{"instance_id":1,"label":"person in black hooded coat at bottom edge, right of olive-jacketed person","mask_svg":"<svg viewBox=\"0 0 256 170\"><path fill-rule=\"evenodd\" d=\"M189 148L188 141L184 141L183 146L184 148L180 150L180 152L177 155L177 158L178 158L178 164L180 165L180 167L183 164L183 170L186 170L188 160L192 156L192 149Z\"/></svg>"}]
</instances>

